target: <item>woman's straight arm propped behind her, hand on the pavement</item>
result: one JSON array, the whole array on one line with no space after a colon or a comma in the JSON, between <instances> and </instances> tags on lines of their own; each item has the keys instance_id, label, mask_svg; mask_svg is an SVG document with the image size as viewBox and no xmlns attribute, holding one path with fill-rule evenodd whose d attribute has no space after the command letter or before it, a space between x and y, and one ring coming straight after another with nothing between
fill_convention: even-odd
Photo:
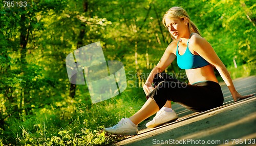
<instances>
[{"instance_id":1,"label":"woman's straight arm propped behind her, hand on the pavement","mask_svg":"<svg viewBox=\"0 0 256 146\"><path fill-rule=\"evenodd\" d=\"M227 68L222 63L219 56L216 54L215 50L204 38L202 38L201 36L195 36L194 39L190 39L190 40L191 40L189 41L190 48L193 49L195 52L197 52L200 56L203 57L203 59L205 59L208 63L210 63L212 66L214 66L218 70L222 79L228 86L228 89L232 94L234 101L237 101L237 99L243 99L253 95L252 94L248 96L242 96L237 92L237 90L233 85L233 81L230 77L230 74Z\"/></svg>"}]
</instances>

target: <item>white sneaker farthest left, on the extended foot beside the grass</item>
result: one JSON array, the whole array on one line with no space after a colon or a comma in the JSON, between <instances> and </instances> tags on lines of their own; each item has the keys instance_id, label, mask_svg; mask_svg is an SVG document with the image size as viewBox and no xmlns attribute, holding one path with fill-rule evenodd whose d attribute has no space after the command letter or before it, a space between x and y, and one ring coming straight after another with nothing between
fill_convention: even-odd
<instances>
[{"instance_id":1,"label":"white sneaker farthest left, on the extended foot beside the grass","mask_svg":"<svg viewBox=\"0 0 256 146\"><path fill-rule=\"evenodd\" d=\"M117 135L137 135L138 126L136 125L136 127L134 127L130 119L123 118L117 125L105 128L105 131Z\"/></svg>"}]
</instances>

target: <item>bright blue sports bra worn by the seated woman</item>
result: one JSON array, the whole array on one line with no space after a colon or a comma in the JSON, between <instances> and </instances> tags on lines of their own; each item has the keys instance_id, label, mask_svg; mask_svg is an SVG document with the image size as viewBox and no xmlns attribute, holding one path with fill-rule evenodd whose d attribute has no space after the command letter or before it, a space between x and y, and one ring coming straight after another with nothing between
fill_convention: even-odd
<instances>
[{"instance_id":1,"label":"bright blue sports bra worn by the seated woman","mask_svg":"<svg viewBox=\"0 0 256 146\"><path fill-rule=\"evenodd\" d=\"M192 34L190 35L190 37L191 36ZM206 60L204 60L200 55L194 55L190 52L190 50L188 49L188 41L186 51L183 55L180 55L178 50L180 41L177 44L176 56L178 66L181 69L196 69L209 65L209 63Z\"/></svg>"}]
</instances>

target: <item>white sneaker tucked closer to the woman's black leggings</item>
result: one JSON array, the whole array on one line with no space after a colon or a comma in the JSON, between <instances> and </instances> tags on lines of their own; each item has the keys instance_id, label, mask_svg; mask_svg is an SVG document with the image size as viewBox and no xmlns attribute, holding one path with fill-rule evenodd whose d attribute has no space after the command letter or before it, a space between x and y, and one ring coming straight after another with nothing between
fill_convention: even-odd
<instances>
[{"instance_id":1,"label":"white sneaker tucked closer to the woman's black leggings","mask_svg":"<svg viewBox=\"0 0 256 146\"><path fill-rule=\"evenodd\" d=\"M174 110L171 112L164 111L160 109L154 119L146 124L147 128L154 128L163 125L168 122L174 122L178 119L178 115Z\"/></svg>"}]
</instances>

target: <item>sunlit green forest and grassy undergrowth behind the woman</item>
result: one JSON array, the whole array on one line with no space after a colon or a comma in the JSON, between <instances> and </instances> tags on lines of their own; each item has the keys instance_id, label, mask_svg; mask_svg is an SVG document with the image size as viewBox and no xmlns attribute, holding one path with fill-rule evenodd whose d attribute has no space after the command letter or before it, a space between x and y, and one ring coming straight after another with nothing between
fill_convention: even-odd
<instances>
[{"instance_id":1,"label":"sunlit green forest and grassy undergrowth behind the woman","mask_svg":"<svg viewBox=\"0 0 256 146\"><path fill-rule=\"evenodd\" d=\"M142 85L172 41L161 20L173 6L188 12L232 79L255 75L256 4L252 0L9 4L0 3L0 145L117 141L120 137L106 134L103 128L131 116L146 101ZM75 49L98 41L107 61L124 64L127 88L92 104L86 85L69 82L65 59ZM176 62L165 72L187 81Z\"/></svg>"}]
</instances>

